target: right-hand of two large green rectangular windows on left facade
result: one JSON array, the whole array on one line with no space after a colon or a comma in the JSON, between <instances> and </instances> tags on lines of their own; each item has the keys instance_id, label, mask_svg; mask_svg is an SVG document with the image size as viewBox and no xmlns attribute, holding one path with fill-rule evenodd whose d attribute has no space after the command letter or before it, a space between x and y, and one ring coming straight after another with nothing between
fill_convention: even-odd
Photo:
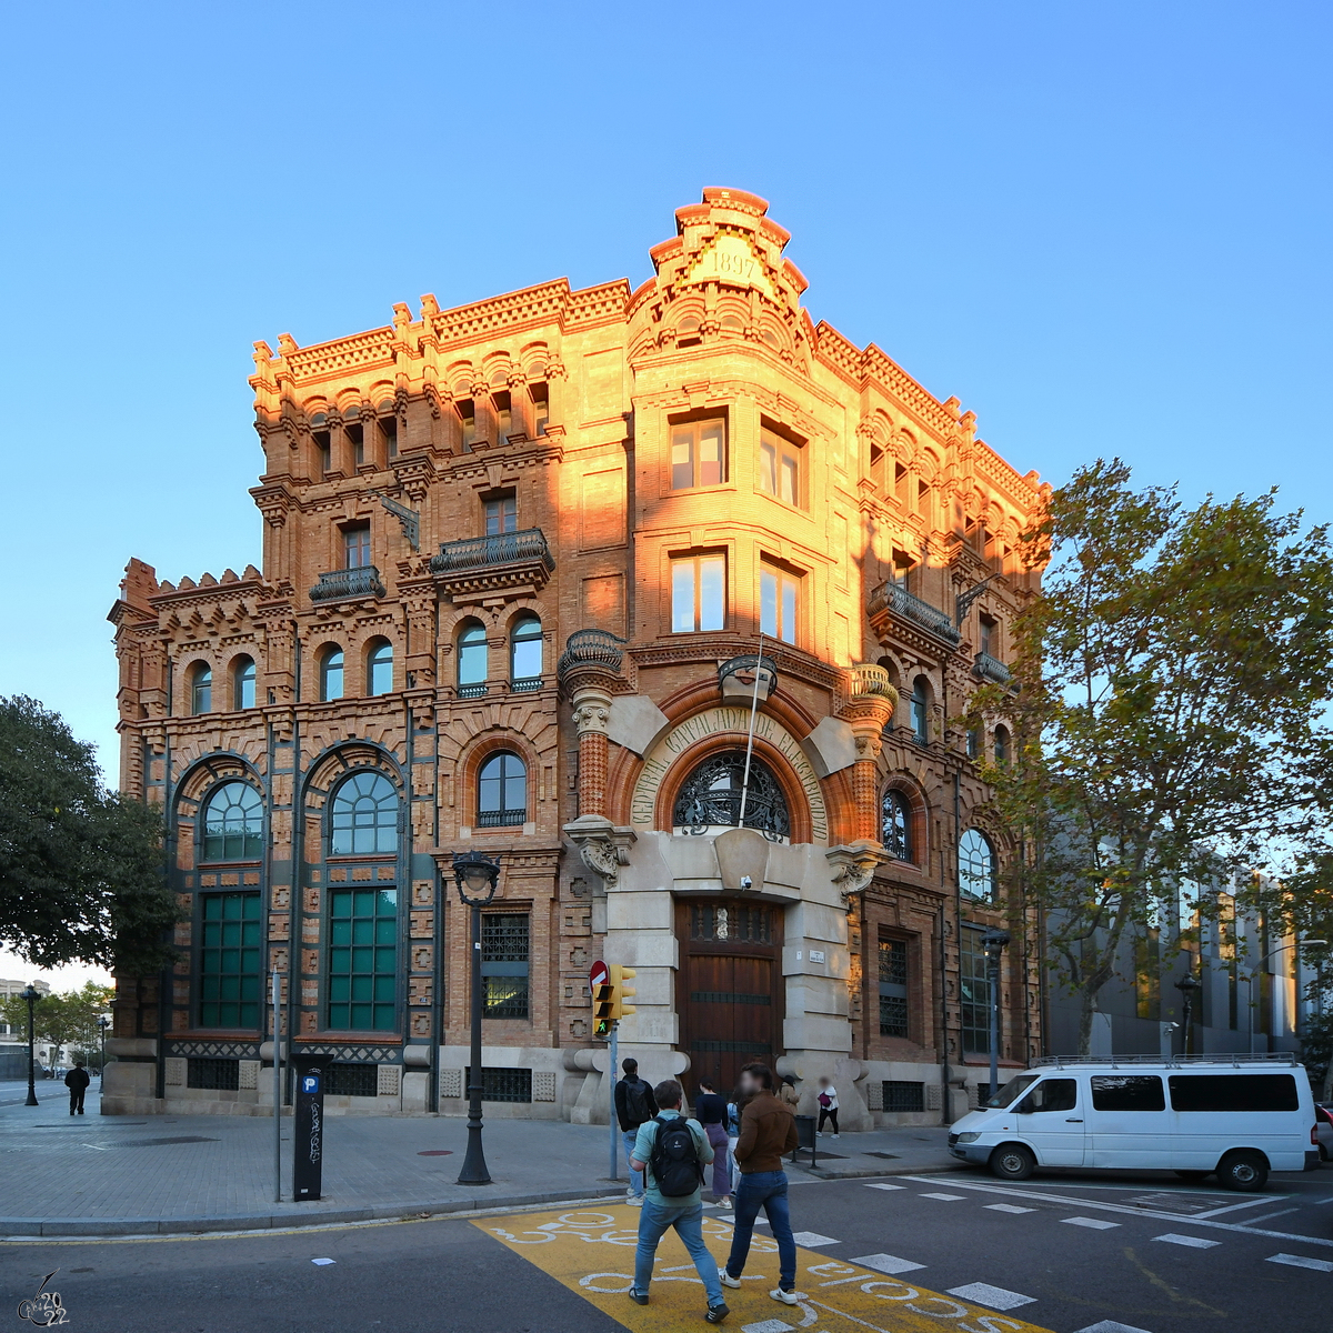
<instances>
[{"instance_id":1,"label":"right-hand of two large green rectangular windows on left facade","mask_svg":"<svg viewBox=\"0 0 1333 1333\"><path fill-rule=\"evenodd\" d=\"M328 1025L337 1032L397 1028L397 889L329 892Z\"/></svg>"}]
</instances>

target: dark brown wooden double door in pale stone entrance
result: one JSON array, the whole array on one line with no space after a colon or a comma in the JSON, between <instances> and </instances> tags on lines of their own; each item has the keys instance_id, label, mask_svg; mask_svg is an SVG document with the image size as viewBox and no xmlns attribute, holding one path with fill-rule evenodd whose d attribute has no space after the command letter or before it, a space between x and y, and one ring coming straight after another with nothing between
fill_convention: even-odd
<instances>
[{"instance_id":1,"label":"dark brown wooden double door in pale stone entrance","mask_svg":"<svg viewBox=\"0 0 1333 1333\"><path fill-rule=\"evenodd\" d=\"M676 936L688 1094L693 1100L706 1076L729 1096L742 1065L758 1060L772 1068L782 1053L782 909L744 898L678 898Z\"/></svg>"}]
</instances>

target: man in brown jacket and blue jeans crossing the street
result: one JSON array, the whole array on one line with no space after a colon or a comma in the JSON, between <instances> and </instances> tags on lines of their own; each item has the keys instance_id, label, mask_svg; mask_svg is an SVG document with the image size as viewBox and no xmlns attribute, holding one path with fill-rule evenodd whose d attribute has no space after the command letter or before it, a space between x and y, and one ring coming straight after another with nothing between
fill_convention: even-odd
<instances>
[{"instance_id":1,"label":"man in brown jacket and blue jeans crossing the street","mask_svg":"<svg viewBox=\"0 0 1333 1333\"><path fill-rule=\"evenodd\" d=\"M746 1065L741 1070L741 1093L749 1098L736 1140L741 1186L736 1192L736 1224L722 1285L741 1285L754 1218L762 1208L777 1241L780 1274L777 1286L768 1294L784 1305L796 1305L796 1241L786 1206L786 1172L782 1170L782 1154L796 1150L796 1117L790 1106L773 1096L773 1070L768 1065Z\"/></svg>"}]
</instances>

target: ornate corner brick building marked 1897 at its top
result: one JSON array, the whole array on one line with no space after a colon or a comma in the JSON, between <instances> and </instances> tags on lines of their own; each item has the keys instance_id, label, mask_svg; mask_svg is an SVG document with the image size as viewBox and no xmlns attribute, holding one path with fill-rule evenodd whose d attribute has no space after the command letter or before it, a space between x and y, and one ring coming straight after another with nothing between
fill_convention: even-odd
<instances>
[{"instance_id":1,"label":"ornate corner brick building marked 1897 at its top","mask_svg":"<svg viewBox=\"0 0 1333 1333\"><path fill-rule=\"evenodd\" d=\"M853 1129L985 1077L1014 849L974 760L1008 741L953 718L1006 676L1036 475L810 320L762 200L676 223L637 291L256 344L263 571L132 560L111 613L121 785L164 809L183 952L117 978L108 1110L260 1112L276 969L331 1109L460 1112L464 849L501 865L492 1114L605 1117L596 958L637 968L621 1044L651 1077L769 1058L812 1104L828 1073Z\"/></svg>"}]
</instances>

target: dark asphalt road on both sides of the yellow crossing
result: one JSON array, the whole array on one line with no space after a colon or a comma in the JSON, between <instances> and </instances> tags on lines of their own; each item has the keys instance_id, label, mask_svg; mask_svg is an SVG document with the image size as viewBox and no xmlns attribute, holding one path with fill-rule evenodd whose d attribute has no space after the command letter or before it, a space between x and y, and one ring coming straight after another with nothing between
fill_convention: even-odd
<instances>
[{"instance_id":1,"label":"dark asphalt road on both sides of the yellow crossing","mask_svg":"<svg viewBox=\"0 0 1333 1333\"><path fill-rule=\"evenodd\" d=\"M876 1188L885 1185L896 1188ZM814 1233L804 1245L829 1260L876 1256L878 1270L897 1269L901 1284L937 1293L986 1284L1022 1298L1008 1312L992 1305L997 1313L986 1324L937 1321L966 1333L1006 1333L1006 1317L1054 1333L1101 1321L1113 1324L1102 1333L1117 1333L1114 1325L1145 1333L1268 1326L1313 1333L1328 1328L1333 1308L1333 1168L1274 1177L1258 1196L1185 1186L1160 1174L816 1182L793 1186L792 1217L797 1230ZM1274 1262L1276 1256L1286 1258ZM316 1265L317 1258L335 1262ZM105 1333L601 1333L651 1326L644 1320L656 1309L627 1301L624 1324L608 1317L543 1272L539 1258L507 1249L469 1221L9 1242L0 1246L0 1320L31 1328L16 1318L17 1302L52 1269L59 1270L51 1286L61 1294L65 1326ZM964 1298L978 1300L974 1293ZM800 1310L776 1304L765 1317L780 1317L786 1328L802 1324ZM745 1320L754 1322L753 1314ZM874 1326L893 1330L898 1322L898 1312L885 1305ZM672 1326L696 1324L706 1328L693 1313ZM726 1326L733 1324L745 1328L741 1320Z\"/></svg>"}]
</instances>

